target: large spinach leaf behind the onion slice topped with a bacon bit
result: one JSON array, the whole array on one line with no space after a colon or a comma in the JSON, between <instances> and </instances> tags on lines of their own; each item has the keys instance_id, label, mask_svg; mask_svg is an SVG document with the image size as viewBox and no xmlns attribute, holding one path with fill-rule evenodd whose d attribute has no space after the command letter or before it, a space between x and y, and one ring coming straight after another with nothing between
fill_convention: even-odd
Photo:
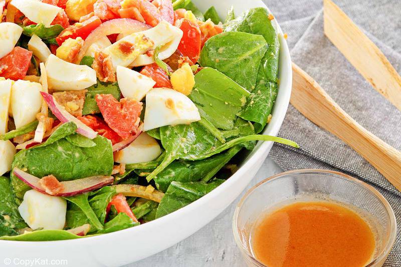
<instances>
[{"instance_id":1,"label":"large spinach leaf behind the onion slice topped with a bacon bit","mask_svg":"<svg viewBox=\"0 0 401 267\"><path fill-rule=\"evenodd\" d=\"M37 177L53 174L60 181L111 175L114 164L111 142L98 135L92 140L94 147L74 145L65 137L75 134L75 129L75 123L65 123L43 144L21 150L14 156L12 168L26 168ZM11 174L11 181L14 193L22 199L30 187L14 174Z\"/></svg>"}]
</instances>

